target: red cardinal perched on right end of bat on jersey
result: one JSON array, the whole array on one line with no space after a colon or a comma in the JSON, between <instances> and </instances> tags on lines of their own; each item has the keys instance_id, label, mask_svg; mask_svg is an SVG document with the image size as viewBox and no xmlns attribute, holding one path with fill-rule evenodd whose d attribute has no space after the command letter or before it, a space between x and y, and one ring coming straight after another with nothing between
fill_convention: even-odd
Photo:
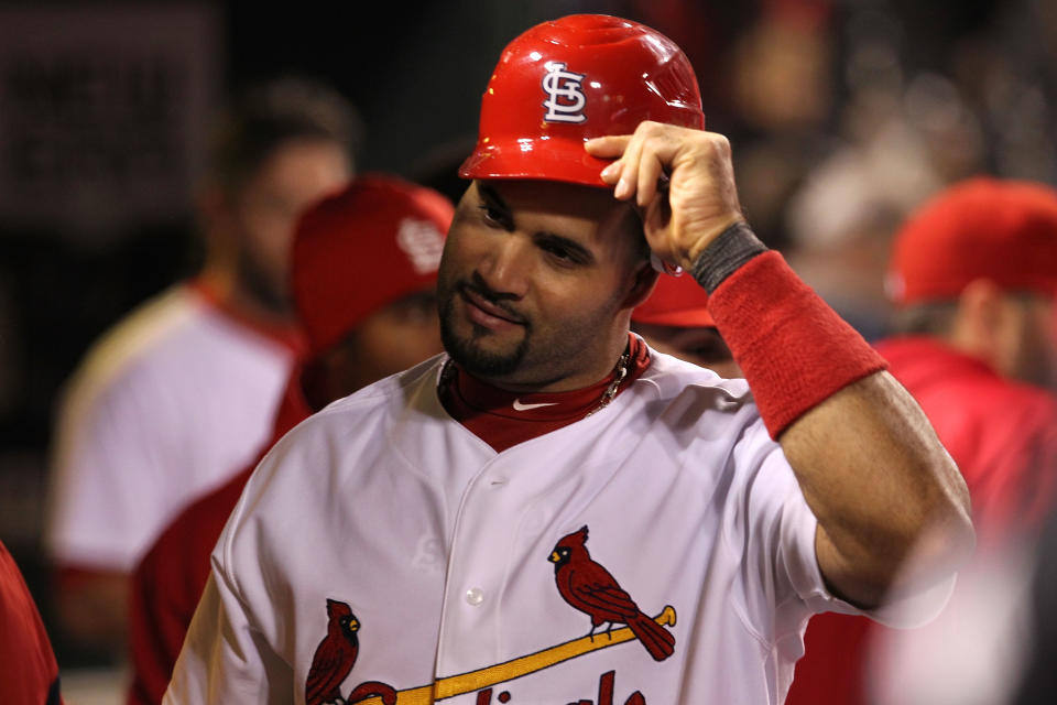
<instances>
[{"instance_id":1,"label":"red cardinal perched on right end of bat on jersey","mask_svg":"<svg viewBox=\"0 0 1057 705\"><path fill-rule=\"evenodd\" d=\"M595 630L602 625L608 625L607 633L614 623L628 625L656 661L671 657L675 637L639 609L609 571L591 560L586 544L584 525L558 541L549 561L554 563L554 579L563 599L591 618L588 636L593 639Z\"/></svg>"}]
</instances>

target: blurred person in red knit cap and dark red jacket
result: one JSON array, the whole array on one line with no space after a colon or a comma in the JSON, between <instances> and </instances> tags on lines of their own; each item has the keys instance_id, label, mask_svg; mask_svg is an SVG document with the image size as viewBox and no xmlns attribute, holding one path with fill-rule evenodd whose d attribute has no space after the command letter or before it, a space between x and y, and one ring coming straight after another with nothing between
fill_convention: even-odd
<instances>
[{"instance_id":1,"label":"blurred person in red knit cap and dark red jacket","mask_svg":"<svg viewBox=\"0 0 1057 705\"><path fill-rule=\"evenodd\" d=\"M308 352L268 447L331 401L440 352L434 289L453 213L432 189L363 176L304 215L291 268ZM209 576L209 553L254 466L181 513L137 568L130 704L162 701Z\"/></svg>"}]
</instances>

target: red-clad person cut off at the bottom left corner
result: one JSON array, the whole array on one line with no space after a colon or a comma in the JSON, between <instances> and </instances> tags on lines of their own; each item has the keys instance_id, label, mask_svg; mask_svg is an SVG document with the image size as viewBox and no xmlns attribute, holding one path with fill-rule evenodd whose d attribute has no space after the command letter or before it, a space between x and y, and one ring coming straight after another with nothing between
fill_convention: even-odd
<instances>
[{"instance_id":1,"label":"red-clad person cut off at the bottom left corner","mask_svg":"<svg viewBox=\"0 0 1057 705\"><path fill-rule=\"evenodd\" d=\"M58 664L22 573L0 542L0 698L59 705Z\"/></svg>"}]
</instances>

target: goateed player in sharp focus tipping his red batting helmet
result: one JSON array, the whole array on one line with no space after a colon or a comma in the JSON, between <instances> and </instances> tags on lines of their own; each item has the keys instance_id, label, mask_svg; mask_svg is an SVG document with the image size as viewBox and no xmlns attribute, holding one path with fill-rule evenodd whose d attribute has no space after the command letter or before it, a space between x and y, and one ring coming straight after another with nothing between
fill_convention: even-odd
<instances>
[{"instance_id":1,"label":"goateed player in sharp focus tipping his red batting helmet","mask_svg":"<svg viewBox=\"0 0 1057 705\"><path fill-rule=\"evenodd\" d=\"M972 544L957 469L752 236L702 127L650 28L508 45L438 273L446 354L272 448L165 702L777 703L810 614L942 601ZM755 402L629 333L651 261L709 291Z\"/></svg>"}]
</instances>

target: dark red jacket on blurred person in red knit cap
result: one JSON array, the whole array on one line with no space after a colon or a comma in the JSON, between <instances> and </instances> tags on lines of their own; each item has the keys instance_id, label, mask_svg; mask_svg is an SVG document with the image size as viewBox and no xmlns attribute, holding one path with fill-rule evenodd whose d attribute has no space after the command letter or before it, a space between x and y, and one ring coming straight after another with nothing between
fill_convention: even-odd
<instances>
[{"instance_id":1,"label":"dark red jacket on blurred person in red knit cap","mask_svg":"<svg viewBox=\"0 0 1057 705\"><path fill-rule=\"evenodd\" d=\"M258 460L310 413L295 371L283 394L272 440ZM254 467L257 462L185 509L135 570L129 600L130 705L162 702L209 577L209 555Z\"/></svg>"}]
</instances>

